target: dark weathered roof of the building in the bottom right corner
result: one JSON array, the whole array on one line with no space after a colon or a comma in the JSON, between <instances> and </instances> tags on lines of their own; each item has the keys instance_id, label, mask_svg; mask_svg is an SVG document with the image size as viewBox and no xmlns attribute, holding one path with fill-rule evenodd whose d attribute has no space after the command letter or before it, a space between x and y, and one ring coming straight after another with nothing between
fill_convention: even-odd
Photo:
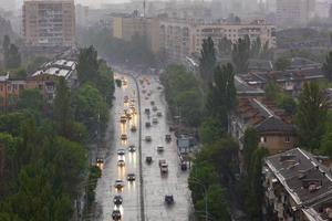
<instances>
[{"instance_id":1,"label":"dark weathered roof of the building in the bottom right corner","mask_svg":"<svg viewBox=\"0 0 332 221\"><path fill-rule=\"evenodd\" d=\"M298 207L308 208L332 198L331 172L305 150L295 148L270 156L266 165Z\"/></svg>"}]
</instances>

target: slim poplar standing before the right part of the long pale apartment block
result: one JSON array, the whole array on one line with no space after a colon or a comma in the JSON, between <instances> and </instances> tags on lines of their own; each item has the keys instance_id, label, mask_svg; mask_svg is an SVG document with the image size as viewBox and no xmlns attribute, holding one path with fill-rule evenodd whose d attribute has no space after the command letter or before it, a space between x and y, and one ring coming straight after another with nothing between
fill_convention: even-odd
<instances>
[{"instance_id":1,"label":"slim poplar standing before the right part of the long pale apartment block","mask_svg":"<svg viewBox=\"0 0 332 221\"><path fill-rule=\"evenodd\" d=\"M249 64L250 39L246 35L232 45L231 61L238 73L246 73Z\"/></svg>"}]
</instances>

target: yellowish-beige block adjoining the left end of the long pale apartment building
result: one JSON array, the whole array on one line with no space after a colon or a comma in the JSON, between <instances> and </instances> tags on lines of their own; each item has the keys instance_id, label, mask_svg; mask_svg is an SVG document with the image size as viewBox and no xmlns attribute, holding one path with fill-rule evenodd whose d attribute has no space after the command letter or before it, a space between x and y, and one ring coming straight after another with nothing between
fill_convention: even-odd
<instances>
[{"instance_id":1,"label":"yellowish-beige block adjoining the left end of the long pale apartment building","mask_svg":"<svg viewBox=\"0 0 332 221\"><path fill-rule=\"evenodd\" d=\"M113 36L132 41L135 35L145 36L153 52L159 51L159 19L137 14L120 14L113 18Z\"/></svg>"}]
</instances>

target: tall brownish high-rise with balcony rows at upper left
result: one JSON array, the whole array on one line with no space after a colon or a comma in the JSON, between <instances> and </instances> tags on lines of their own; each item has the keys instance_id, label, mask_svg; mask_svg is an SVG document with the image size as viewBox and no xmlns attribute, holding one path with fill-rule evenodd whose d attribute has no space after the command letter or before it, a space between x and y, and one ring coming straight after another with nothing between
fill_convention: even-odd
<instances>
[{"instance_id":1,"label":"tall brownish high-rise with balcony rows at upper left","mask_svg":"<svg viewBox=\"0 0 332 221\"><path fill-rule=\"evenodd\" d=\"M24 0L22 31L32 46L72 46L75 41L74 0Z\"/></svg>"}]
</instances>

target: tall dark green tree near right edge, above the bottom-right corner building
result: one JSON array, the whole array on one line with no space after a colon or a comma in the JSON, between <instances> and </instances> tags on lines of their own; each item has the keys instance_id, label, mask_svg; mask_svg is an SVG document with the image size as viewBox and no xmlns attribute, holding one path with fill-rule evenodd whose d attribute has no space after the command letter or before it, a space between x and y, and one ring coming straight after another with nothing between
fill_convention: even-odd
<instances>
[{"instance_id":1,"label":"tall dark green tree near right edge, above the bottom-right corner building","mask_svg":"<svg viewBox=\"0 0 332 221\"><path fill-rule=\"evenodd\" d=\"M320 140L325 131L328 102L324 92L314 82L304 83L299 98L295 123L300 145L310 150L320 147Z\"/></svg>"}]
</instances>

